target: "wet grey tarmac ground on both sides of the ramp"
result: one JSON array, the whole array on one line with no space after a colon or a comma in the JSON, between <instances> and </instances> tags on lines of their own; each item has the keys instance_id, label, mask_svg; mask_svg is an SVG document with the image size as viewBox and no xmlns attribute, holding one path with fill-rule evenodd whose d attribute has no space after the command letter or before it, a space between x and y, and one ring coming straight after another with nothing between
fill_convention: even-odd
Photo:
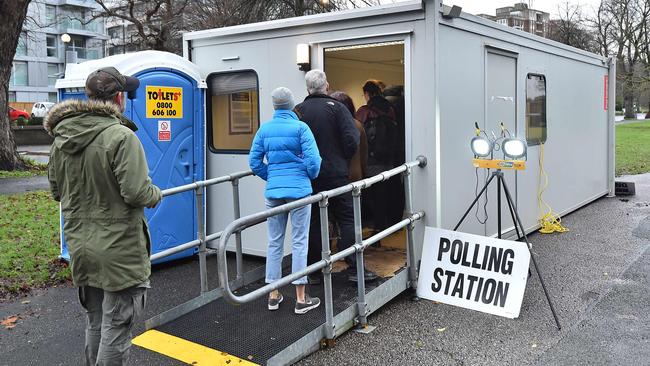
<instances>
[{"instance_id":1,"label":"wet grey tarmac ground on both sides of the ramp","mask_svg":"<svg viewBox=\"0 0 650 366\"><path fill-rule=\"evenodd\" d=\"M370 316L373 332L348 332L299 364L650 365L650 174L618 180L634 181L636 196L601 198L562 219L569 232L530 236L561 331L533 271L517 319L404 293ZM214 288L214 257L208 273ZM198 295L197 259L155 266L151 282L144 318ZM0 365L82 363L85 319L74 288L0 303L0 319L12 315L15 328L0 327ZM134 334L142 331L140 320ZM129 364L179 363L134 346Z\"/></svg>"}]
</instances>

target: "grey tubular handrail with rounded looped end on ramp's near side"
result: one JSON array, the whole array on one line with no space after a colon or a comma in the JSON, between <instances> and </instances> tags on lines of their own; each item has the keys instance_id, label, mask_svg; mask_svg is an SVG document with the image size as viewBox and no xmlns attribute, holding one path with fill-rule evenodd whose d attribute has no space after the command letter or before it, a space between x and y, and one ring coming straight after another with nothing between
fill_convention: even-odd
<instances>
[{"instance_id":1,"label":"grey tubular handrail with rounded looped end on ramp's near side","mask_svg":"<svg viewBox=\"0 0 650 366\"><path fill-rule=\"evenodd\" d=\"M223 230L223 233L220 237L219 245L217 247L217 262L219 263L218 265L218 274L219 274L219 285L221 289L223 290L223 293L225 295L225 298L234 303L234 304L244 304L250 301L253 301L261 296L264 296L274 290L279 289L282 286L286 286L290 284L291 282L307 276L309 274L315 273L318 270L321 270L325 267L331 266L331 264L337 260L343 259L347 257L348 255L351 255L353 253L361 253L365 248L367 248L369 245L381 240L382 238L397 232L398 230L402 229L403 227L406 227L408 225L413 224L415 221L420 220L424 217L424 212L417 212L417 213L411 213L411 216L408 218L398 222L397 224L389 227L388 229L385 229L378 234L375 234L373 237L367 239L367 240L362 240L357 243L355 243L353 246L334 254L333 256L329 257L329 254L327 254L327 258L323 258L320 261L311 264L307 266L305 269L297 272L297 273L292 273L288 276L282 277L281 279L267 284L263 287L260 287L252 292L246 293L244 295L237 296L235 295L231 288L230 288L230 282L228 279L228 263L227 263L227 258L226 258L226 246L228 243L228 240L230 239L230 236L233 233L238 233L241 232L242 230L246 229L247 227L256 225L260 222L265 221L269 217L275 216L277 214L281 213L286 213L290 212L293 209L300 208L303 206L311 205L317 202L323 202L327 201L331 197L336 197L340 196L345 193L353 192L356 194L356 198L358 198L359 192L364 189L368 188L376 183L383 182L385 180L388 180L389 178L396 176L401 173L407 173L410 174L410 170L413 167L424 167L426 165L426 158L423 156L420 156L417 158L417 160L400 165L396 168L393 168L391 170L385 171L383 173L377 174L376 176L366 178L354 183L347 184L342 187L338 187L329 191L323 191L320 193L317 193L315 195L305 197L302 199L298 199L296 201L277 206L265 211L261 211L258 213L254 213L248 216L241 217L239 219L236 219L235 221L231 222L226 228ZM409 181L410 185L410 181ZM409 192L410 192L410 187L409 187ZM356 204L355 204L356 205ZM323 207L323 206L321 206ZM326 207L326 206L325 206ZM410 208L410 202L409 202L409 208ZM357 219L359 220L360 223L360 217L357 214L358 210L356 210L355 207L355 223ZM360 213L360 210L359 210ZM321 216L322 217L322 216ZM323 223L321 222L321 225ZM328 244L329 245L329 244ZM325 244L323 244L325 246ZM323 255L325 257L325 253ZM359 258L359 256L357 257ZM362 259L362 257L361 257ZM357 271L357 274L361 277L363 277L363 264L361 263L361 271ZM359 267L359 261L357 261L357 267ZM359 269L359 268L357 268ZM360 279L359 281L361 284L363 284L363 278ZM360 285L363 286L363 285ZM365 315L364 315L365 317Z\"/></svg>"}]
</instances>

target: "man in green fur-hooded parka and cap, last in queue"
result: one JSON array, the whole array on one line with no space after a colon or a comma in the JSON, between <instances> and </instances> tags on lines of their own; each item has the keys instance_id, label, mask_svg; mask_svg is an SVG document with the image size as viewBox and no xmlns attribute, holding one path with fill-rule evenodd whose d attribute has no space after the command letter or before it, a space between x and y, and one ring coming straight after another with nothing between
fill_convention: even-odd
<instances>
[{"instance_id":1,"label":"man in green fur-hooded parka and cap, last in queue","mask_svg":"<svg viewBox=\"0 0 650 366\"><path fill-rule=\"evenodd\" d=\"M124 93L138 79L107 67L86 79L87 101L52 107L43 124L54 136L49 181L61 202L72 280L87 313L87 365L123 365L133 320L143 310L151 274L145 207L160 202L147 160L122 115Z\"/></svg>"}]
</instances>

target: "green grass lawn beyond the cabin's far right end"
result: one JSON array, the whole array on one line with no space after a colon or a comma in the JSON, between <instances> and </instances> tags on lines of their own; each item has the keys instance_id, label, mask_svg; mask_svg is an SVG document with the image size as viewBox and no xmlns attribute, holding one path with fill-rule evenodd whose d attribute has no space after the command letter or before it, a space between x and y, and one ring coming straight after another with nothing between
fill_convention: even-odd
<instances>
[{"instance_id":1,"label":"green grass lawn beyond the cabin's far right end","mask_svg":"<svg viewBox=\"0 0 650 366\"><path fill-rule=\"evenodd\" d=\"M650 120L616 126L616 175L650 172Z\"/></svg>"}]
</instances>

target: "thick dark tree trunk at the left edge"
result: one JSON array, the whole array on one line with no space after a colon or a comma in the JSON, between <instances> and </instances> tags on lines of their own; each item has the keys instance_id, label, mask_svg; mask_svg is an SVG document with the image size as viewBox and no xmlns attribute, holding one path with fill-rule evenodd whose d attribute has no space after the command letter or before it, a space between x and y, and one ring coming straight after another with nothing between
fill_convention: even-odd
<instances>
[{"instance_id":1,"label":"thick dark tree trunk at the left edge","mask_svg":"<svg viewBox=\"0 0 650 366\"><path fill-rule=\"evenodd\" d=\"M24 168L16 151L7 109L11 67L30 2L31 0L0 1L0 170Z\"/></svg>"}]
</instances>

